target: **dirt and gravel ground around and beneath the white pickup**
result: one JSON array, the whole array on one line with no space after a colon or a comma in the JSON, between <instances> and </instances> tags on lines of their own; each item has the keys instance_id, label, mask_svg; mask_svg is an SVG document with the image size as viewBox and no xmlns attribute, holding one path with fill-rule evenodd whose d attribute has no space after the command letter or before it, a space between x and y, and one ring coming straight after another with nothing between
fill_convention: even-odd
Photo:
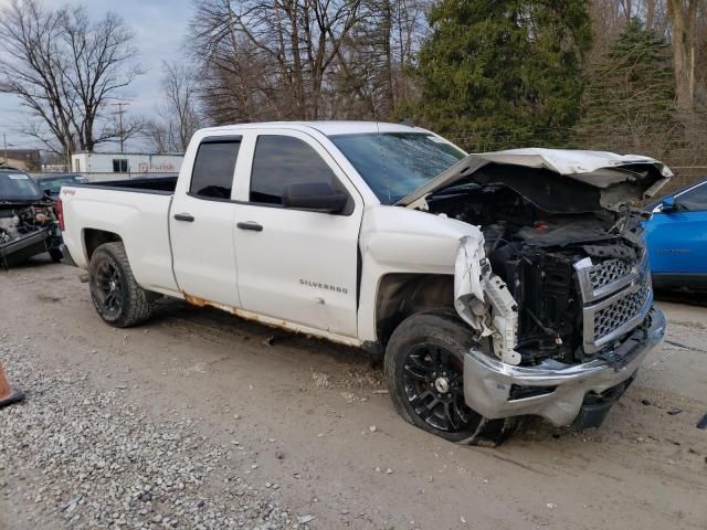
<instances>
[{"instance_id":1,"label":"dirt and gravel ground around and beneath the white pickup","mask_svg":"<svg viewBox=\"0 0 707 530\"><path fill-rule=\"evenodd\" d=\"M46 262L0 272L0 530L707 529L705 307L659 303L601 428L489 449L402 421L358 350L169 300L116 330Z\"/></svg>"}]
</instances>

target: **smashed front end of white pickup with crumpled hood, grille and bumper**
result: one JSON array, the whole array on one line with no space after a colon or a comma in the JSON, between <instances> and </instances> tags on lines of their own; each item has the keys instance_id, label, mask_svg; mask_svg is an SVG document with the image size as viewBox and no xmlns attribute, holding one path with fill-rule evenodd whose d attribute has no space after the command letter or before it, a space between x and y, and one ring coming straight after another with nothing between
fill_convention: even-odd
<instances>
[{"instance_id":1,"label":"smashed front end of white pickup with crumpled hood, grille and bumper","mask_svg":"<svg viewBox=\"0 0 707 530\"><path fill-rule=\"evenodd\" d=\"M598 426L665 331L644 214L622 190L655 192L669 171L632 161L568 179L511 160L415 200L484 234L461 241L455 264L455 307L478 333L465 358L466 402L488 418Z\"/></svg>"}]
</instances>

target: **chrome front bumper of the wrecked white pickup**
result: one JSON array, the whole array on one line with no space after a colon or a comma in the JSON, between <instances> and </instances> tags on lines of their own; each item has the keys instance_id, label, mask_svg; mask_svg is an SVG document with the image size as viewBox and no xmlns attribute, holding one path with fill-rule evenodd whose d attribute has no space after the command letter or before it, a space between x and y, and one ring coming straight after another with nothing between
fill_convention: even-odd
<instances>
[{"instance_id":1,"label":"chrome front bumper of the wrecked white pickup","mask_svg":"<svg viewBox=\"0 0 707 530\"><path fill-rule=\"evenodd\" d=\"M546 360L536 367L516 367L469 350L464 356L466 403L488 418L539 415L557 426L571 425L583 412L588 394L601 396L621 388L634 377L648 351L661 342L665 316L653 308L648 319L613 351L584 364Z\"/></svg>"}]
</instances>

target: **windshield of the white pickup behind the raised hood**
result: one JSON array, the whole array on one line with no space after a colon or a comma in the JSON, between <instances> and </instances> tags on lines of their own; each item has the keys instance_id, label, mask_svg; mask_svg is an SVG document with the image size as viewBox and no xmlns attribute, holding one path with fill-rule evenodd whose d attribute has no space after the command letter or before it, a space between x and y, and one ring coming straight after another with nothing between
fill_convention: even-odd
<instances>
[{"instance_id":1,"label":"windshield of the white pickup behind the raised hood","mask_svg":"<svg viewBox=\"0 0 707 530\"><path fill-rule=\"evenodd\" d=\"M330 139L383 204L394 204L465 156L429 132L370 132Z\"/></svg>"}]
</instances>

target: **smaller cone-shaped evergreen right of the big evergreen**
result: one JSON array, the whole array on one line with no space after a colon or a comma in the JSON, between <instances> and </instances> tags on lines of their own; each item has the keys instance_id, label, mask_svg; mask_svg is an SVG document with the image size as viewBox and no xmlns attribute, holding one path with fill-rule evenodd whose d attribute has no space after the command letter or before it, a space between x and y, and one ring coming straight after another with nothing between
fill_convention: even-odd
<instances>
[{"instance_id":1,"label":"smaller cone-shaped evergreen right of the big evergreen","mask_svg":"<svg viewBox=\"0 0 707 530\"><path fill-rule=\"evenodd\" d=\"M590 77L577 142L657 156L678 126L669 44L632 19Z\"/></svg>"}]
</instances>

